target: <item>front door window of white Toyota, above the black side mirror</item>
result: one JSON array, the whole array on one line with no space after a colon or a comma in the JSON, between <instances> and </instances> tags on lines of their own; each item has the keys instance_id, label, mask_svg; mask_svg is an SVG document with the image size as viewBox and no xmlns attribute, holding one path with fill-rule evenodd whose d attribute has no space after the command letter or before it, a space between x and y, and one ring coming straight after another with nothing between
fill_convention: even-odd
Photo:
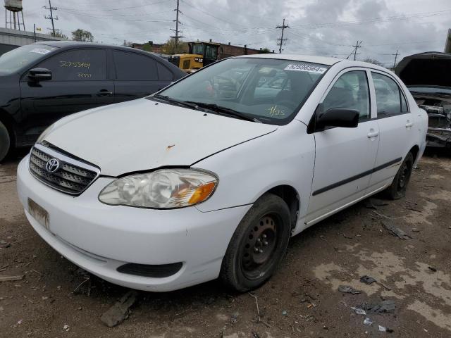
<instances>
[{"instance_id":1,"label":"front door window of white Toyota, above the black side mirror","mask_svg":"<svg viewBox=\"0 0 451 338\"><path fill-rule=\"evenodd\" d=\"M340 76L323 101L323 110L347 108L359 111L359 120L370 118L369 87L364 70L353 70Z\"/></svg>"}]
</instances>

